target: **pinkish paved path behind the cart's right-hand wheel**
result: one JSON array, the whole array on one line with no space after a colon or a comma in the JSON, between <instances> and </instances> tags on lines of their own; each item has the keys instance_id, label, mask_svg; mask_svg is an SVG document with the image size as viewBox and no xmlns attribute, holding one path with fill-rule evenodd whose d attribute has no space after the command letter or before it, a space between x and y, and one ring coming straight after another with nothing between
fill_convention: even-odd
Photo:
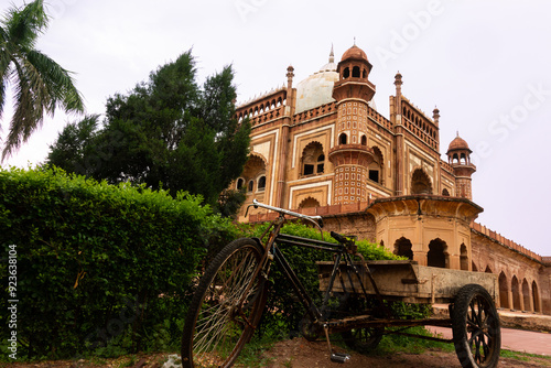
<instances>
[{"instance_id":1,"label":"pinkish paved path behind the cart's right-hand wheel","mask_svg":"<svg viewBox=\"0 0 551 368\"><path fill-rule=\"evenodd\" d=\"M429 331L452 338L452 328L426 326ZM501 328L501 349L551 356L551 334Z\"/></svg>"}]
</instances>

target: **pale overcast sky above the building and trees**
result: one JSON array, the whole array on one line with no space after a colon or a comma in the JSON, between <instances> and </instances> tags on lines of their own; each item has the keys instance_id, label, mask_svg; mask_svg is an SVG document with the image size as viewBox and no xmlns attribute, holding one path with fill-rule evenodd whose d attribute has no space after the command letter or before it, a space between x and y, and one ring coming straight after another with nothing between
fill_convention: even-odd
<instances>
[{"instance_id":1,"label":"pale overcast sky above the building and trees","mask_svg":"<svg viewBox=\"0 0 551 368\"><path fill-rule=\"evenodd\" d=\"M294 84L354 44L374 65L375 101L388 118L393 77L432 117L441 152L458 131L474 151L478 221L551 256L551 2L507 0L46 0L52 15L39 48L75 73L87 112L127 93L151 71L193 48L201 80L233 64L239 100ZM23 0L0 0L0 9ZM1 127L7 130L11 109ZM44 160L78 117L48 119L8 162ZM445 159L445 155L443 156Z\"/></svg>"}]
</instances>

